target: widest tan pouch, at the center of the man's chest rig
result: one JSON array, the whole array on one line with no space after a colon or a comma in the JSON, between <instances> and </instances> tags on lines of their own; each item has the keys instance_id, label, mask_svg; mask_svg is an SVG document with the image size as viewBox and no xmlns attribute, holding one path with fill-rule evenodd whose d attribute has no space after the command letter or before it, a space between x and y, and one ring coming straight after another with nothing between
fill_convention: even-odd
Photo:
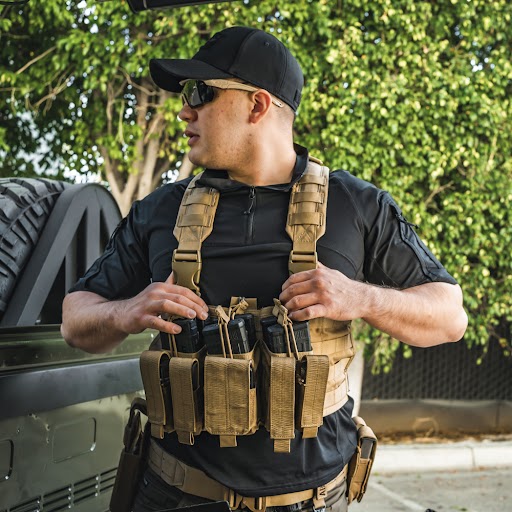
<instances>
[{"instance_id":1,"label":"widest tan pouch, at the center of the man's chest rig","mask_svg":"<svg viewBox=\"0 0 512 512\"><path fill-rule=\"evenodd\" d=\"M204 428L222 447L258 428L254 351L233 358L207 355L204 362Z\"/></svg>"}]
</instances>

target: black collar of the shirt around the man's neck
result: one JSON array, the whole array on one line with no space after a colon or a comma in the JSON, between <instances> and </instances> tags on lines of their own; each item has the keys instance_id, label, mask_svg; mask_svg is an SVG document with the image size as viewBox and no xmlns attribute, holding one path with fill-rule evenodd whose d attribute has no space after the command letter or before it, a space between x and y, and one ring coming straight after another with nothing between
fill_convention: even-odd
<instances>
[{"instance_id":1,"label":"black collar of the shirt around the man's neck","mask_svg":"<svg viewBox=\"0 0 512 512\"><path fill-rule=\"evenodd\" d=\"M276 185L265 185L252 188L282 190L283 192L290 191L293 185L302 178L302 175L306 171L309 158L308 150L305 147L300 146L299 144L294 144L293 147L295 149L295 153L297 154L297 158L295 160L295 167L293 168L291 181L289 183L279 183ZM219 192L227 192L241 188L251 188L251 185L232 180L229 177L227 171L216 169L205 169L202 176L197 181L197 184L204 187L213 187Z\"/></svg>"}]
</instances>

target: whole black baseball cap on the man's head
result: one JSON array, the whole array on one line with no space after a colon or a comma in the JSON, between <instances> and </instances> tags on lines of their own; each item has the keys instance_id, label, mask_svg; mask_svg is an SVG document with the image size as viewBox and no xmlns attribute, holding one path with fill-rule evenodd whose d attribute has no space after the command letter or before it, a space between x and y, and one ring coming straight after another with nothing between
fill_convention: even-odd
<instances>
[{"instance_id":1,"label":"whole black baseball cap on the man's head","mask_svg":"<svg viewBox=\"0 0 512 512\"><path fill-rule=\"evenodd\" d=\"M217 32L191 59L151 59L151 77L158 87L180 92L180 81L239 78L261 87L294 111L304 77L290 50L271 34L249 27Z\"/></svg>"}]
</instances>

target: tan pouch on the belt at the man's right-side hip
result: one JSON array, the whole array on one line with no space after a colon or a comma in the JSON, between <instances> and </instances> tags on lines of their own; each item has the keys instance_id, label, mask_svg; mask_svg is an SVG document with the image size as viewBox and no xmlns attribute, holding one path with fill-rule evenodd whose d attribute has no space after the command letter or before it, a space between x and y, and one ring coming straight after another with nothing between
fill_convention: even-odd
<instances>
[{"instance_id":1,"label":"tan pouch on the belt at the man's right-side hip","mask_svg":"<svg viewBox=\"0 0 512 512\"><path fill-rule=\"evenodd\" d=\"M357 426L357 447L348 466L347 500L349 504L353 500L363 499L377 450L377 437L373 430L359 416L354 416L352 420Z\"/></svg>"}]
</instances>

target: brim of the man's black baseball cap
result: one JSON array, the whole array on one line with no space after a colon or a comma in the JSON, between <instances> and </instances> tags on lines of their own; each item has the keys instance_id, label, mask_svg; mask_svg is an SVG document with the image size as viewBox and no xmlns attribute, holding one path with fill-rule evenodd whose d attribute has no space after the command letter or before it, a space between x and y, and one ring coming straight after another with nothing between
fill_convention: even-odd
<instances>
[{"instance_id":1,"label":"brim of the man's black baseball cap","mask_svg":"<svg viewBox=\"0 0 512 512\"><path fill-rule=\"evenodd\" d=\"M189 78L210 80L213 78L230 78L206 62L195 59L151 59L149 62L151 78L158 87L170 92L181 92L180 82Z\"/></svg>"}]
</instances>

